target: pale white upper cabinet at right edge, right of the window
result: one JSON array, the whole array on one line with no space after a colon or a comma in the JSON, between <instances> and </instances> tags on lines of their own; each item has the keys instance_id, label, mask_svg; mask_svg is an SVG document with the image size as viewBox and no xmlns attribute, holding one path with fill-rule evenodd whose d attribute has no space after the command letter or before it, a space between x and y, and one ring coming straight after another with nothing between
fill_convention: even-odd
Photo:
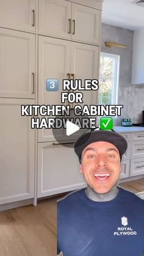
<instances>
[{"instance_id":1,"label":"pale white upper cabinet at right edge, right of the window","mask_svg":"<svg viewBox=\"0 0 144 256\"><path fill-rule=\"evenodd\" d=\"M132 54L132 84L144 84L144 29L134 31Z\"/></svg>"}]
</instances>

